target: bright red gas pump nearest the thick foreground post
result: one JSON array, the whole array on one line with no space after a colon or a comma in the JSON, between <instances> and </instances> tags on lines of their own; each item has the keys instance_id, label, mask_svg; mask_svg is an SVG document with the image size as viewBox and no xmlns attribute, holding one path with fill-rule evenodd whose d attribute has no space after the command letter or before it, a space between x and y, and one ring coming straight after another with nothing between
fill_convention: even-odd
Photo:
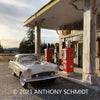
<instances>
[{"instance_id":1,"label":"bright red gas pump nearest the thick foreground post","mask_svg":"<svg viewBox=\"0 0 100 100\"><path fill-rule=\"evenodd\" d=\"M74 72L74 50L66 47L63 49L63 71L67 73Z\"/></svg>"}]
</instances>

